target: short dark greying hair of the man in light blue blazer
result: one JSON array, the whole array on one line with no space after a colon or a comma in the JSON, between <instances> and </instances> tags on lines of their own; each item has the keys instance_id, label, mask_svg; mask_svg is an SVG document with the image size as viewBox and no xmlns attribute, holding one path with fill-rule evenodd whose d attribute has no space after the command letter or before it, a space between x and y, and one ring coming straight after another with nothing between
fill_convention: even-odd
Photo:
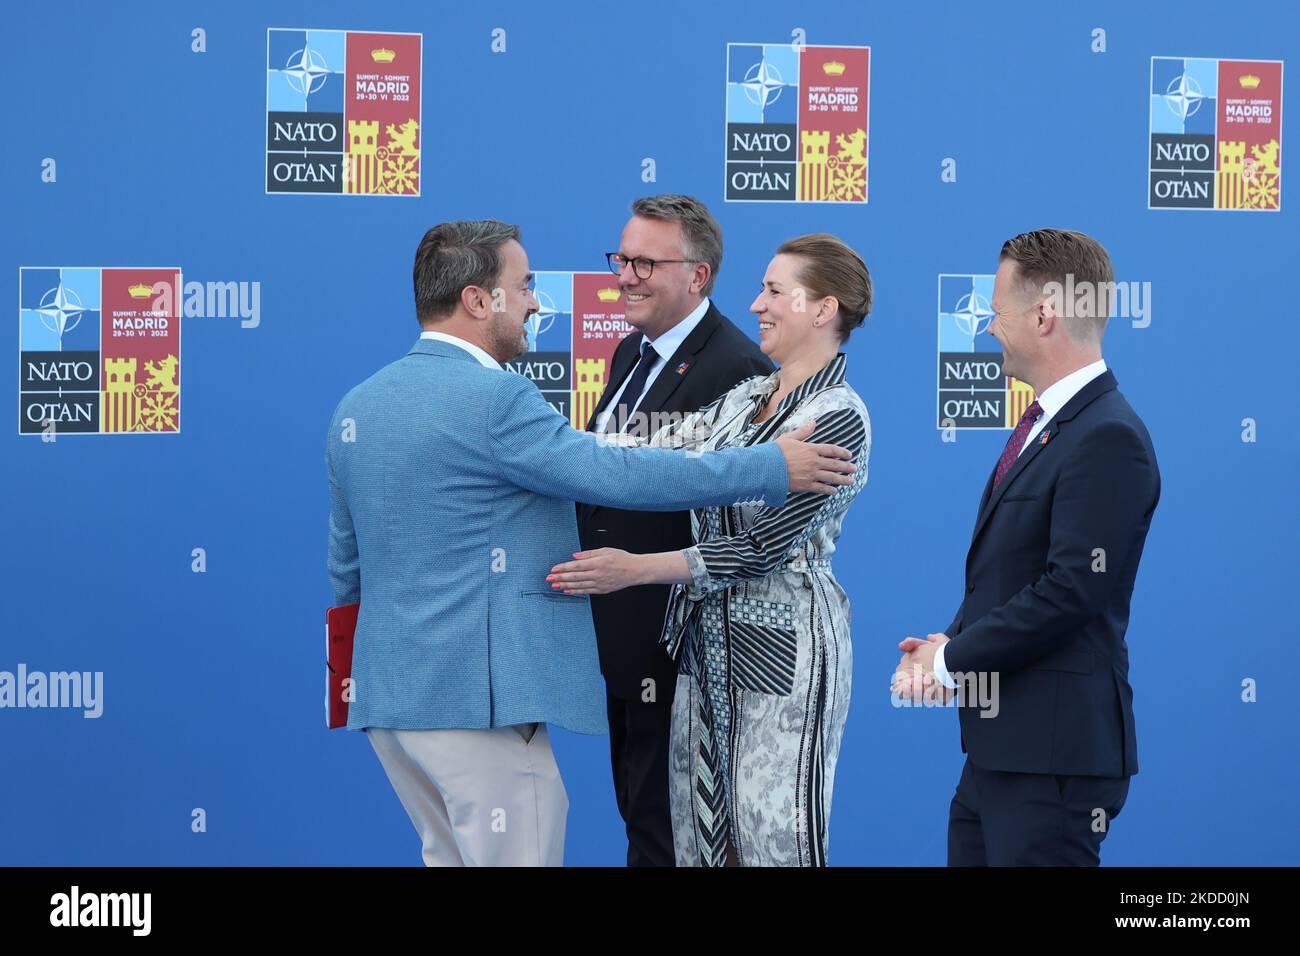
<instances>
[{"instance_id":1,"label":"short dark greying hair of the man in light blue blazer","mask_svg":"<svg viewBox=\"0 0 1300 956\"><path fill-rule=\"evenodd\" d=\"M415 251L415 315L420 321L455 311L465 286L491 290L500 276L500 248L519 241L519 226L495 219L439 222Z\"/></svg>"}]
</instances>

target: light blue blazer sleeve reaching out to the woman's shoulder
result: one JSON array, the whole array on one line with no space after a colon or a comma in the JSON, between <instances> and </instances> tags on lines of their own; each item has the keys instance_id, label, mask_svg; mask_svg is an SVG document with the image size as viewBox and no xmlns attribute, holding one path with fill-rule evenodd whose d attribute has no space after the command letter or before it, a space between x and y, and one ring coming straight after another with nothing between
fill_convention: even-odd
<instances>
[{"instance_id":1,"label":"light blue blazer sleeve reaching out to the woman's shoulder","mask_svg":"<svg viewBox=\"0 0 1300 956\"><path fill-rule=\"evenodd\" d=\"M488 444L502 475L520 488L628 511L781 501L789 488L775 445L702 455L627 447L571 428L523 376L499 378Z\"/></svg>"}]
</instances>

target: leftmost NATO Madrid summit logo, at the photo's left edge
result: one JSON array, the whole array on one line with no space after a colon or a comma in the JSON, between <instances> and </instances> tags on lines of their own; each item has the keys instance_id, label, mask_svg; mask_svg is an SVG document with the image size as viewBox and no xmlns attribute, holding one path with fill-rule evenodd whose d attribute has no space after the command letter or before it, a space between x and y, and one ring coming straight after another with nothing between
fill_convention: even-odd
<instances>
[{"instance_id":1,"label":"leftmost NATO Madrid summit logo, at the photo's left edge","mask_svg":"<svg viewBox=\"0 0 1300 956\"><path fill-rule=\"evenodd\" d=\"M18 271L18 433L181 431L181 271Z\"/></svg>"}]
</instances>

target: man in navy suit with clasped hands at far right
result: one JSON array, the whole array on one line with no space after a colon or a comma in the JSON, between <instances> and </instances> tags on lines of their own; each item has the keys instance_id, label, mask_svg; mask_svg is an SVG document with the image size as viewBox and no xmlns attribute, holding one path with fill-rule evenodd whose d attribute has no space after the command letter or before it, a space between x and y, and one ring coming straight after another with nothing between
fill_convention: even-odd
<instances>
[{"instance_id":1,"label":"man in navy suit with clasped hands at far right","mask_svg":"<svg viewBox=\"0 0 1300 956\"><path fill-rule=\"evenodd\" d=\"M1160 470L1101 358L1106 251L1040 229L1000 259L989 332L1037 399L984 486L957 615L900 644L894 689L958 697L949 866L1096 866L1138 773L1124 631Z\"/></svg>"}]
</instances>

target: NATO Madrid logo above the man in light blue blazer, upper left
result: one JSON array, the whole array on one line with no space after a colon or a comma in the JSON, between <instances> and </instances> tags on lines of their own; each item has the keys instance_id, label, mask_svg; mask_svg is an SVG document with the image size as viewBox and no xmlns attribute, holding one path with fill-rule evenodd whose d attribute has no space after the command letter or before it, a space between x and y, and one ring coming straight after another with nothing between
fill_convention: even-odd
<instances>
[{"instance_id":1,"label":"NATO Madrid logo above the man in light blue blazer, upper left","mask_svg":"<svg viewBox=\"0 0 1300 956\"><path fill-rule=\"evenodd\" d=\"M420 195L421 34L266 30L266 193Z\"/></svg>"}]
</instances>

